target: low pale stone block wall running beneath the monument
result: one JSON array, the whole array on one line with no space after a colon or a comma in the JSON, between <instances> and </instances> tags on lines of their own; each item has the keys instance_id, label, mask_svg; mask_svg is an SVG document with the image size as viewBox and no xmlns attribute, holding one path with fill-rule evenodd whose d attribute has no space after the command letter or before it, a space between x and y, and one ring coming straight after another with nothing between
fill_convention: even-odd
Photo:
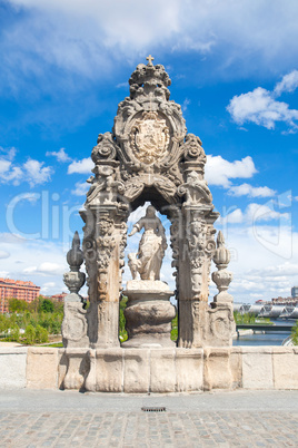
<instances>
[{"instance_id":1,"label":"low pale stone block wall running beneath the monument","mask_svg":"<svg viewBox=\"0 0 298 448\"><path fill-rule=\"evenodd\" d=\"M0 348L0 388L126 393L298 389L298 347Z\"/></svg>"}]
</instances>

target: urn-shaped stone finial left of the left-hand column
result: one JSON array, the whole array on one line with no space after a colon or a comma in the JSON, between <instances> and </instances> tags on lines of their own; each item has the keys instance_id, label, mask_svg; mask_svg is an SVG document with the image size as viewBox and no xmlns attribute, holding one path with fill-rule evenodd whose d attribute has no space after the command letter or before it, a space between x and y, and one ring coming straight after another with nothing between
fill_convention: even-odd
<instances>
[{"instance_id":1,"label":"urn-shaped stone finial left of the left-hand column","mask_svg":"<svg viewBox=\"0 0 298 448\"><path fill-rule=\"evenodd\" d=\"M67 262L69 264L70 272L64 273L63 282L69 289L70 293L78 294L86 280L85 273L80 272L80 266L83 262L83 254L80 249L80 237L78 232L74 233L71 250L67 253Z\"/></svg>"}]
</instances>

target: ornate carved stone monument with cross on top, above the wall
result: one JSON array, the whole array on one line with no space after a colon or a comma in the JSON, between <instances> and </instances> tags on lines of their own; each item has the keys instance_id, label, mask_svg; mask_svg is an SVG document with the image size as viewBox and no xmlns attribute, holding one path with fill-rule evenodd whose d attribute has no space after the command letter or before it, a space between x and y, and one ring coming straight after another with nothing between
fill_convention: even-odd
<instances>
[{"instance_id":1,"label":"ornate carved stone monument with cross on top, above the wall","mask_svg":"<svg viewBox=\"0 0 298 448\"><path fill-rule=\"evenodd\" d=\"M200 138L187 134L181 107L170 100L171 81L165 67L153 65L152 60L148 57L148 64L139 64L132 72L130 95L118 106L112 132L100 134L91 153L93 176L88 179L90 191L80 212L85 221L82 253L90 306L83 314L86 334L76 342L86 349L120 345L119 300L127 221L129 213L146 201L152 207L133 227L132 234L143 228L143 235L138 253L129 256L132 280L126 286L128 347L142 347L148 334L149 344L170 343L175 309L169 298L173 293L159 280L167 244L153 207L170 221L178 347L231 344L229 256L222 236L218 236L217 245L215 242L213 223L219 214L213 211L212 195L205 181L207 157ZM212 260L218 267L212 279L219 293L210 306ZM79 302L78 315L82 312ZM72 343L66 328L64 340ZM90 358L90 366L93 362Z\"/></svg>"}]
</instances>

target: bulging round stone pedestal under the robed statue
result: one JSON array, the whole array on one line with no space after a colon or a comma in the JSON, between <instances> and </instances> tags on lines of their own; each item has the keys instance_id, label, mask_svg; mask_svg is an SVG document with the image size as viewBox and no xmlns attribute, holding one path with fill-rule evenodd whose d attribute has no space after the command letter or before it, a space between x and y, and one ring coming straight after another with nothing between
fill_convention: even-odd
<instances>
[{"instance_id":1,"label":"bulging round stone pedestal under the robed statue","mask_svg":"<svg viewBox=\"0 0 298 448\"><path fill-rule=\"evenodd\" d=\"M173 292L167 283L159 280L131 280L123 294L128 296L125 316L129 339L122 347L173 347L170 332L176 309L169 302Z\"/></svg>"}]
</instances>

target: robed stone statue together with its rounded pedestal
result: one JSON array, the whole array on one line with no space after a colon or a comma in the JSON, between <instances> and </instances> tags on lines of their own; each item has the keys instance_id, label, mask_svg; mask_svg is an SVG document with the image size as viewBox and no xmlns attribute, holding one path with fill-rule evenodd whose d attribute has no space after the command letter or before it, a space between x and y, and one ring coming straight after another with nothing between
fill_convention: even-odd
<instances>
[{"instance_id":1,"label":"robed stone statue together with its rounded pedestal","mask_svg":"<svg viewBox=\"0 0 298 448\"><path fill-rule=\"evenodd\" d=\"M171 347L171 320L176 315L175 306L169 302L173 292L167 283L160 281L160 267L167 240L161 221L156 216L156 208L149 205L146 216L132 227L128 236L143 230L139 251L128 255L132 281L127 283L128 296L125 315L127 320L128 342L123 347ZM138 273L140 280L137 280Z\"/></svg>"}]
</instances>

